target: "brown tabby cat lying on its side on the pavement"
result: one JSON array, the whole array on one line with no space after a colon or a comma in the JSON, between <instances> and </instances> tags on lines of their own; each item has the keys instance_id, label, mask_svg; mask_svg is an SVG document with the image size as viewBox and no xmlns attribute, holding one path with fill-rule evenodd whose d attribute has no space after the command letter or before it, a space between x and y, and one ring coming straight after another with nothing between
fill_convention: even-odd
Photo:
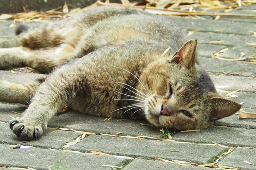
<instances>
[{"instance_id":1,"label":"brown tabby cat lying on its side on the pavement","mask_svg":"<svg viewBox=\"0 0 256 170\"><path fill-rule=\"evenodd\" d=\"M1 102L29 102L9 122L20 139L42 136L65 104L175 130L207 128L241 108L217 94L195 57L197 41L167 17L96 7L17 32L0 42L0 68L49 73L27 84L0 81Z\"/></svg>"}]
</instances>

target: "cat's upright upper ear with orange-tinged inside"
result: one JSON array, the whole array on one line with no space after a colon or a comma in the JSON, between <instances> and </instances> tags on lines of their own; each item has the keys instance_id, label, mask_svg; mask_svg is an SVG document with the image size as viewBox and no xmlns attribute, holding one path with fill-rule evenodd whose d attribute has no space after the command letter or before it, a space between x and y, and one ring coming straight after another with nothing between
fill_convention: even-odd
<instances>
[{"instance_id":1,"label":"cat's upright upper ear with orange-tinged inside","mask_svg":"<svg viewBox=\"0 0 256 170\"><path fill-rule=\"evenodd\" d=\"M172 56L172 61L192 69L195 65L195 48L197 40L189 40Z\"/></svg>"}]
</instances>

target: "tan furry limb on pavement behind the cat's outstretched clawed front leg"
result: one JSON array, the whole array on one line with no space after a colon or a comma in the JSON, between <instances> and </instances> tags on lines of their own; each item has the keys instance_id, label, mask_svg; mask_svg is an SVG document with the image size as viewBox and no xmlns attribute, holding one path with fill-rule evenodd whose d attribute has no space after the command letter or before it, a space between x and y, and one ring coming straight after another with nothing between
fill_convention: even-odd
<instances>
[{"instance_id":1,"label":"tan furry limb on pavement behind the cat's outstretched clawed front leg","mask_svg":"<svg viewBox=\"0 0 256 170\"><path fill-rule=\"evenodd\" d=\"M26 84L0 80L0 102L29 105L30 99L32 99L39 85L41 85L45 79L46 77Z\"/></svg>"}]
</instances>

